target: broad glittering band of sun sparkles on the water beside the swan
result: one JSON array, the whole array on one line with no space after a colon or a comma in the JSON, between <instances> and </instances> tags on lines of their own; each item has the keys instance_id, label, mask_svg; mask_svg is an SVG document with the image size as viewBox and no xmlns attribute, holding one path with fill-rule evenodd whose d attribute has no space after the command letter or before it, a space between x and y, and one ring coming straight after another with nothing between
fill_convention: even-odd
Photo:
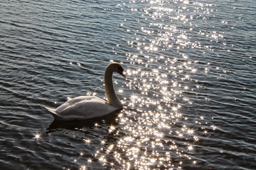
<instances>
[{"instance_id":1,"label":"broad glittering band of sun sparkles on the water beside the swan","mask_svg":"<svg viewBox=\"0 0 256 170\"><path fill-rule=\"evenodd\" d=\"M140 9L137 5L140 3L147 3L149 7ZM178 8L168 5L165 8L164 3L173 3ZM202 88L193 75L201 71L209 73L212 67L208 63L198 67L201 60L193 59L196 54L187 50L195 49L202 52L200 55L214 50L209 44L193 40L191 32L196 31L199 38L211 41L223 38L218 32L201 31L193 22L201 15L204 18L204 12L209 15L210 6L189 1L132 1L118 6L138 14L141 18L134 20L144 20L145 24L138 22L139 26L127 27L131 22L128 17L118 24L128 35L123 42L131 48L125 52L131 66L125 69L127 81L124 88L118 89L119 94L127 95L122 98L125 108L116 117L118 124L106 127L108 135L117 140L102 139L93 156L104 166L119 165L121 169L182 169L185 160L196 164L196 158L191 156L196 155L194 143L200 135L206 136L207 131L214 131L216 127L207 127L207 117L193 119L187 114L186 106L193 105L188 93ZM207 8L203 8L205 6ZM200 9L203 12L199 16ZM184 11L189 11L189 15ZM125 45L118 42L113 46L113 53ZM99 128L99 124L95 123L96 127Z\"/></svg>"}]
</instances>

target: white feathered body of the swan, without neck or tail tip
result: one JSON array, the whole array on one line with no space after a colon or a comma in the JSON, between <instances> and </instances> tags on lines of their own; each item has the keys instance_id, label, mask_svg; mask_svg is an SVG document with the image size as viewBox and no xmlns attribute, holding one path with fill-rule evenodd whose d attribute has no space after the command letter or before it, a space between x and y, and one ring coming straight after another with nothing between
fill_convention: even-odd
<instances>
[{"instance_id":1,"label":"white feathered body of the swan, without neck or tail tip","mask_svg":"<svg viewBox=\"0 0 256 170\"><path fill-rule=\"evenodd\" d=\"M80 96L62 104L56 109L56 114L60 120L75 120L102 117L115 110L118 108L111 106L99 97Z\"/></svg>"}]
</instances>

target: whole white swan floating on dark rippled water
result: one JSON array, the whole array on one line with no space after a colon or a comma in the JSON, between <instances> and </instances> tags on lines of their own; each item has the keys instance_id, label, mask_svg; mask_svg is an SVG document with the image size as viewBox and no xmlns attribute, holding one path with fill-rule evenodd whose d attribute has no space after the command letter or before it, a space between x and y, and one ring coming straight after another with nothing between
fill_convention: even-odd
<instances>
[{"instance_id":1,"label":"whole white swan floating on dark rippled water","mask_svg":"<svg viewBox=\"0 0 256 170\"><path fill-rule=\"evenodd\" d=\"M121 64L112 62L106 67L104 81L105 94L108 99L100 99L96 96L79 96L68 100L56 109L47 108L57 120L81 120L86 118L102 117L123 108L121 101L116 96L112 75L113 72L125 77Z\"/></svg>"}]
</instances>

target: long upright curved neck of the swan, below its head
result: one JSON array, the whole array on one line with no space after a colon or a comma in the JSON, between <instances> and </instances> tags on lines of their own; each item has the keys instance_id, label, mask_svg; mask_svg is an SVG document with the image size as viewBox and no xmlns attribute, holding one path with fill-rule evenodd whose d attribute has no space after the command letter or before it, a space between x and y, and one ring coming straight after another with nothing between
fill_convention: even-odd
<instances>
[{"instance_id":1,"label":"long upright curved neck of the swan, below its head","mask_svg":"<svg viewBox=\"0 0 256 170\"><path fill-rule=\"evenodd\" d=\"M122 109L123 105L121 101L118 99L118 97L116 96L112 76L113 76L113 72L109 70L107 67L105 71L105 77L104 77L106 98L108 99L109 104L111 104L112 106L118 109Z\"/></svg>"}]
</instances>

